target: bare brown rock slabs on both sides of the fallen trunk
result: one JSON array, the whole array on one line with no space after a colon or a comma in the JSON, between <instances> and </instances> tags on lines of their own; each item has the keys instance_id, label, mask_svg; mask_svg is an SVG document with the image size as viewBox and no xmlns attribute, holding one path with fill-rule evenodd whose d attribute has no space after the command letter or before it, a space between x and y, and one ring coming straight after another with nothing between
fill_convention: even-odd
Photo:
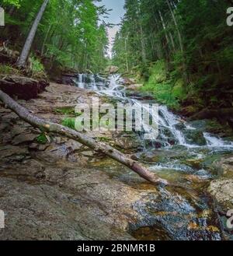
<instances>
[{"instance_id":1,"label":"bare brown rock slabs on both sides of the fallen trunk","mask_svg":"<svg viewBox=\"0 0 233 256\"><path fill-rule=\"evenodd\" d=\"M56 109L91 103L92 93L51 83L37 99L18 101L61 122ZM1 105L0 121L0 240L134 240L129 226L140 219L134 204L147 191L88 166L93 152L78 142L50 135L51 142L39 144L40 131Z\"/></svg>"}]
</instances>

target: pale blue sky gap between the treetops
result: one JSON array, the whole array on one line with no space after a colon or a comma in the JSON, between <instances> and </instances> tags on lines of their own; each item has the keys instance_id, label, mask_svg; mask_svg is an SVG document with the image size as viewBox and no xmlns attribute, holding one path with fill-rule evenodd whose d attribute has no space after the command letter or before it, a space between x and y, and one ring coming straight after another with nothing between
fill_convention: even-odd
<instances>
[{"instance_id":1,"label":"pale blue sky gap between the treetops","mask_svg":"<svg viewBox=\"0 0 233 256\"><path fill-rule=\"evenodd\" d=\"M119 24L121 21L121 18L123 18L124 15L124 0L102 0L102 2L99 3L99 5L106 5L107 9L113 9L113 11L110 12L109 18L104 19L106 23L113 23L113 24ZM120 26L113 26L113 28L109 28L109 40L110 40L110 50L109 54L111 55L111 50L113 47L113 38L115 37L117 30L119 30Z\"/></svg>"}]
</instances>

